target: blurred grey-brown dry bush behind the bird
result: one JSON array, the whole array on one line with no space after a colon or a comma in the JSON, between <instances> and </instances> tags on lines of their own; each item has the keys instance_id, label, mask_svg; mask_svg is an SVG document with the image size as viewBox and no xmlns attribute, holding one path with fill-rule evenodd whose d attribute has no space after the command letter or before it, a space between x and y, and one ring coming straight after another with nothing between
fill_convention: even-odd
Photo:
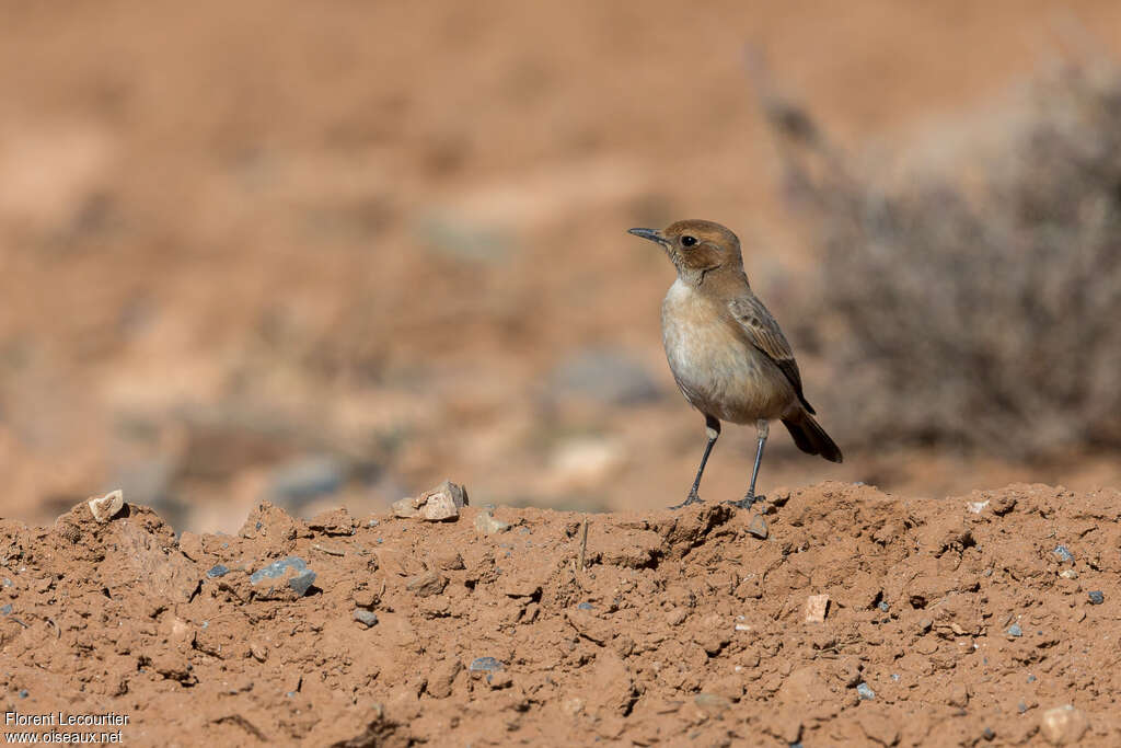
<instances>
[{"instance_id":1,"label":"blurred grey-brown dry bush behind the bird","mask_svg":"<svg viewBox=\"0 0 1121 748\"><path fill-rule=\"evenodd\" d=\"M886 186L778 99L791 195L819 219L831 421L853 445L1028 459L1121 447L1121 72L1039 81L965 179Z\"/></svg>"}]
</instances>

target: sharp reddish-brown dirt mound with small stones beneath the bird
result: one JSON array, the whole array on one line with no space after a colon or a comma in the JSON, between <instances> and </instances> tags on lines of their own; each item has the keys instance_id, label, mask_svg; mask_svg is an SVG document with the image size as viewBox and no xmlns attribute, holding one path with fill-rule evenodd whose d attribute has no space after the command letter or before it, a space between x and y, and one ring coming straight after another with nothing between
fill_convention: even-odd
<instances>
[{"instance_id":1,"label":"sharp reddish-brown dirt mound with small stones beneath the bird","mask_svg":"<svg viewBox=\"0 0 1121 748\"><path fill-rule=\"evenodd\" d=\"M127 715L132 745L1121 741L1121 492L757 508L587 515L586 544L583 515L470 506L0 523L4 711Z\"/></svg>"}]
</instances>

